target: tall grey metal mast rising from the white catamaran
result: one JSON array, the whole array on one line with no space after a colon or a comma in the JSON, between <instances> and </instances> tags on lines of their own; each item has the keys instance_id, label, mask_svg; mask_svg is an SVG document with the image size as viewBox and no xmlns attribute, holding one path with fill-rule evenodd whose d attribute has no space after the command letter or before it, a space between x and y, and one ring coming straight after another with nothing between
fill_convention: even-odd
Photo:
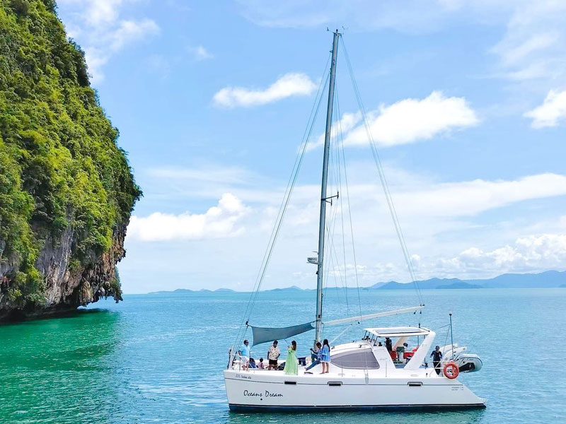
<instances>
[{"instance_id":1,"label":"tall grey metal mast rising from the white catamaran","mask_svg":"<svg viewBox=\"0 0 566 424\"><path fill-rule=\"evenodd\" d=\"M330 153L330 129L332 128L332 110L334 104L334 81L336 78L336 57L338 53L338 37L334 33L332 45L332 64L330 64L330 85L328 86L328 107L326 109L326 130L324 134L323 181L320 190L320 223L318 225L318 262L316 270L316 336L315 343L320 341L323 319L323 261L324 261L324 232L326 222L326 183L328 180L328 155Z\"/></svg>"}]
</instances>

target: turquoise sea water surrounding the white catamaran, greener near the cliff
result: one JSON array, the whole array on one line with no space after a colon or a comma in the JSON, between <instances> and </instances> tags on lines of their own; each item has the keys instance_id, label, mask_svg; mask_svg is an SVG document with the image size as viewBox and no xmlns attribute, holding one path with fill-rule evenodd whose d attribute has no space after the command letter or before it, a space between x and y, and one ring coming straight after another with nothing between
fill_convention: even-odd
<instances>
[{"instance_id":1,"label":"turquoise sea water surrounding the white catamaran, greener near the cliff","mask_svg":"<svg viewBox=\"0 0 566 424\"><path fill-rule=\"evenodd\" d=\"M424 290L422 325L480 354L461 379L487 408L442 413L239 415L226 405L221 371L245 293L126 295L69 317L0 326L0 423L536 423L566 422L566 289ZM286 325L313 316L314 292L261 293L252 322ZM408 307L404 290L362 290L364 312ZM347 307L347 304L350 307ZM329 318L359 312L354 290L329 291ZM416 324L416 316L374 320ZM355 330L355 331L354 331ZM332 339L342 331L325 336ZM359 338L359 326L337 342ZM249 335L249 334L248 334ZM311 334L297 336L306 353ZM440 343L441 342L441 343ZM256 356L265 348L258 348Z\"/></svg>"}]
</instances>

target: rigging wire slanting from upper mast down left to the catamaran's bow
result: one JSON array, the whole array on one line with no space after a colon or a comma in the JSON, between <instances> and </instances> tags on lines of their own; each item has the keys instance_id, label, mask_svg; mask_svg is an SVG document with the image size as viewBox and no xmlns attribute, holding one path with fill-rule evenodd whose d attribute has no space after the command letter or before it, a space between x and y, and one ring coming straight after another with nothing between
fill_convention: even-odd
<instances>
[{"instance_id":1,"label":"rigging wire slanting from upper mast down left to the catamaran's bow","mask_svg":"<svg viewBox=\"0 0 566 424\"><path fill-rule=\"evenodd\" d=\"M260 291L263 278L265 277L265 272L267 271L267 266L269 265L271 254L275 247L275 242L277 241L277 235L279 235L279 230L281 229L281 225L283 223L284 214L287 211L287 206L289 205L289 200L291 199L291 193L293 192L294 186L296 184L296 179L299 175L299 170L301 169L301 165L303 163L304 155L306 153L306 147L308 146L308 141L310 141L311 139L313 127L316 122L316 117L318 117L318 111L320 110L320 103L322 102L325 88L328 85L328 81L330 79L330 72L328 72L329 63L330 63L330 54L328 56L328 59L324 67L323 78L320 78L318 92L316 94L313 107L311 108L311 114L308 117L306 128L303 137L301 139L301 146L299 147L299 151L297 152L295 163L293 165L291 176L289 177L289 181L287 182L287 187L285 189L285 194L283 196L282 203L279 206L279 212L277 213L277 219L275 220L275 224L272 228L270 240L267 243L267 248L265 249L265 253L263 254L262 262L260 264L260 269L258 271L258 276L256 276L255 278L253 292L252 295L250 295L250 299L248 300L248 304L246 305L246 310L243 313L242 320L238 328L238 334L236 334L236 338L234 340L233 346L236 346L236 343L238 343L240 338L243 337L243 334L246 334L246 330L248 328L247 325L248 320L253 311L253 305L255 304L255 300ZM324 78L324 75L326 75L326 78ZM246 326L244 326L244 324L246 324ZM242 334L242 330L243 330L243 334Z\"/></svg>"}]
</instances>

